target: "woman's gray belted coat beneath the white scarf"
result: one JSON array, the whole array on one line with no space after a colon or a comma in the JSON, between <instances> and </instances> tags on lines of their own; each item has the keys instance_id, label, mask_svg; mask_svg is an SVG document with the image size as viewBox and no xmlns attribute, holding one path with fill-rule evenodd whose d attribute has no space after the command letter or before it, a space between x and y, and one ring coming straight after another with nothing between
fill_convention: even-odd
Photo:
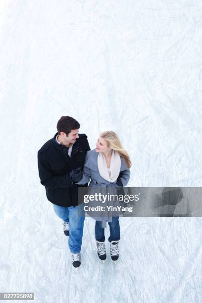
<instances>
[{"instance_id":1,"label":"woman's gray belted coat beneath the white scarf","mask_svg":"<svg viewBox=\"0 0 202 303\"><path fill-rule=\"evenodd\" d=\"M90 181L88 186L88 195L95 195L95 193L98 194L101 193L101 195L117 194L116 191L116 188L118 187L116 184L117 180L115 182L109 182L103 179L99 173L98 154L99 153L96 152L95 150L87 152L85 163L84 163L84 169L83 169L83 179L77 184L85 184ZM127 168L125 159L122 156L121 156L121 168L120 168L119 176L123 186L126 186L130 179L130 169ZM93 217L95 220L102 221L102 227L106 227L106 222L111 222L112 216L115 216L114 211L113 213L110 211L106 211L107 203L108 201L105 201L103 204L101 202L96 203L96 201L91 201L88 202L88 204L86 204L91 207L96 205L103 205L103 207L105 207L105 211L88 212L88 214L91 217ZM118 212L118 214L120 214L120 211Z\"/></svg>"}]
</instances>

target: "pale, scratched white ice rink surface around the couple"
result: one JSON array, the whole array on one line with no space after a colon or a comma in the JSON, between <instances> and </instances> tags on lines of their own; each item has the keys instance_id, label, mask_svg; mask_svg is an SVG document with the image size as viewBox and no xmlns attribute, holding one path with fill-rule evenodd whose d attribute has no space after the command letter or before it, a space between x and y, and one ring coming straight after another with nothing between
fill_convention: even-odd
<instances>
[{"instance_id":1,"label":"pale, scratched white ice rink surface around the couple","mask_svg":"<svg viewBox=\"0 0 202 303\"><path fill-rule=\"evenodd\" d=\"M128 186L202 186L200 0L0 1L0 292L36 303L201 303L202 218L121 218L120 258L82 264L40 184L37 151L70 115L91 149L114 130ZM108 234L108 229L106 235Z\"/></svg>"}]
</instances>

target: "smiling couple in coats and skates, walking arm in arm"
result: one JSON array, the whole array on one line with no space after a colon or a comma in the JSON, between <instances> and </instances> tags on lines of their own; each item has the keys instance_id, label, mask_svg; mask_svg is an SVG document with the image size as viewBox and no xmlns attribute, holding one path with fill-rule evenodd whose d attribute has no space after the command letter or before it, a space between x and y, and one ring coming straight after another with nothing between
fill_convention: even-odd
<instances>
[{"instance_id":1,"label":"smiling couple in coats and skates, walking arm in arm","mask_svg":"<svg viewBox=\"0 0 202 303\"><path fill-rule=\"evenodd\" d=\"M90 150L85 134L79 134L80 124L74 118L62 116L57 133L38 151L41 184L53 204L56 215L63 220L63 231L69 236L72 264L81 264L81 245L85 216L78 215L78 187L126 186L130 178L131 161L118 136L107 131L100 134L96 149ZM118 259L120 226L118 216L108 222L110 254ZM104 227L96 221L95 237L101 260L106 258Z\"/></svg>"}]
</instances>

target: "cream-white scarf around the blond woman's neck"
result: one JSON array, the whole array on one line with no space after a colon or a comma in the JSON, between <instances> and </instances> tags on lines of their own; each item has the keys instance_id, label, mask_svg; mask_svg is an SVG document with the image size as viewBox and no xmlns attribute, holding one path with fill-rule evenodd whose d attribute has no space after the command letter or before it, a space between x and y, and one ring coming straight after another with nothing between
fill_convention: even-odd
<instances>
[{"instance_id":1,"label":"cream-white scarf around the blond woman's neck","mask_svg":"<svg viewBox=\"0 0 202 303\"><path fill-rule=\"evenodd\" d=\"M112 150L111 160L110 160L110 177L106 164L106 158L102 152L98 155L98 169L101 177L109 182L114 182L118 178L121 169L121 157L118 152Z\"/></svg>"}]
</instances>

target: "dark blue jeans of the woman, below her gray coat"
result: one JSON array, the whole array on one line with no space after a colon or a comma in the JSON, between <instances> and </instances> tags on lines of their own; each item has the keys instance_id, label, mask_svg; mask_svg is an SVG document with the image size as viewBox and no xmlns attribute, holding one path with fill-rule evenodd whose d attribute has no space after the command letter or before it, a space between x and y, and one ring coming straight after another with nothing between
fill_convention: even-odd
<instances>
[{"instance_id":1,"label":"dark blue jeans of the woman, below her gray coat","mask_svg":"<svg viewBox=\"0 0 202 303\"><path fill-rule=\"evenodd\" d=\"M112 217L112 222L108 222L110 236L108 238L109 242L120 240L120 225L119 225L119 217ZM101 227L101 221L96 221L95 226L96 240L99 242L104 242L104 227Z\"/></svg>"}]
</instances>

